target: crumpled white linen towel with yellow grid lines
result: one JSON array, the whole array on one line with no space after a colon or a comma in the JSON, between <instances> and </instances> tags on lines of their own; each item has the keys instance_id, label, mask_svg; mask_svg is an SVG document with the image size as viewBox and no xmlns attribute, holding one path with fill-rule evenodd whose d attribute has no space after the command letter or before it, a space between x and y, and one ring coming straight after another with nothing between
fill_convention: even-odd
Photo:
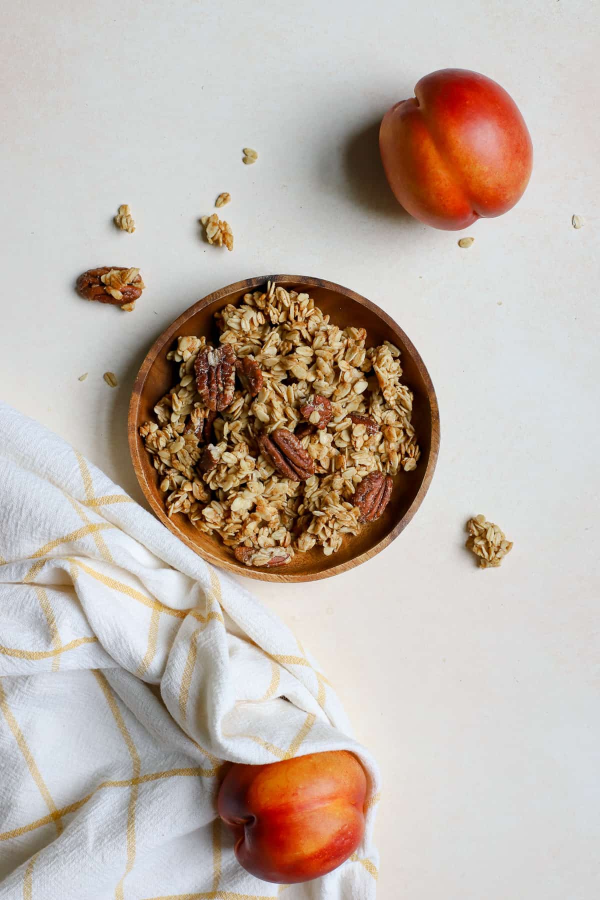
<instances>
[{"instance_id":1,"label":"crumpled white linen towel with yellow grid lines","mask_svg":"<svg viewBox=\"0 0 600 900\"><path fill-rule=\"evenodd\" d=\"M4 405L0 448L0 898L372 900L379 775L290 630ZM336 749L368 773L363 845L304 885L247 874L220 761Z\"/></svg>"}]
</instances>

